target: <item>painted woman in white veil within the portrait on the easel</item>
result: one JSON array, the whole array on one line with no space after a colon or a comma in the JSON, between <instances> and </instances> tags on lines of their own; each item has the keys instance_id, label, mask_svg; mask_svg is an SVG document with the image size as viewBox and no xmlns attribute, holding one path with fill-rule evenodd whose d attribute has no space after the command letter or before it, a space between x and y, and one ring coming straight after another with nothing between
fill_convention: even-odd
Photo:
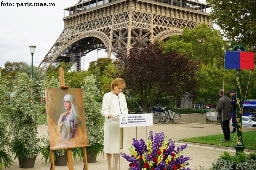
<instances>
[{"instance_id":1,"label":"painted woman in white veil within the portrait on the easel","mask_svg":"<svg viewBox=\"0 0 256 170\"><path fill-rule=\"evenodd\" d=\"M76 108L75 99L72 95L65 95L63 101L66 112L60 115L57 124L57 131L61 138L61 141L59 142L66 144L69 139L74 137L78 125L81 125L83 120Z\"/></svg>"}]
</instances>

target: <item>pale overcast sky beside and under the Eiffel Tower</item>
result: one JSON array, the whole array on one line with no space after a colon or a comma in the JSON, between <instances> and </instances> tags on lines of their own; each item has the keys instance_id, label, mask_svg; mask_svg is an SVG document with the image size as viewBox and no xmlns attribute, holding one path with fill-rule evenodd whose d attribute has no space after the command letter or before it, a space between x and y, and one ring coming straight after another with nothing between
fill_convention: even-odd
<instances>
[{"instance_id":1,"label":"pale overcast sky beside and under the Eiffel Tower","mask_svg":"<svg viewBox=\"0 0 256 170\"><path fill-rule=\"evenodd\" d=\"M0 0L0 67L6 61L24 61L31 64L28 46L35 45L33 65L38 66L64 28L64 8L75 5L78 0ZM204 2L200 0L200 2ZM12 6L7 6L7 4ZM20 6L17 7L17 3ZM52 3L55 6L21 6L21 3ZM6 6L4 6L4 4ZM25 4L24 4L25 5ZM215 26L216 28L216 26ZM106 57L104 50L98 58ZM96 50L85 57L85 69L96 60Z\"/></svg>"}]
</instances>

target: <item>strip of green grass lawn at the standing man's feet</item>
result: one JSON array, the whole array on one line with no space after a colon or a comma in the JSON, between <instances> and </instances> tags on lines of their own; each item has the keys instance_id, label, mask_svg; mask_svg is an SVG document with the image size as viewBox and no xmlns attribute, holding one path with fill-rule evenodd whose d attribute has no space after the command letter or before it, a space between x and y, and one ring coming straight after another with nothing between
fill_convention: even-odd
<instances>
[{"instance_id":1,"label":"strip of green grass lawn at the standing man's feet","mask_svg":"<svg viewBox=\"0 0 256 170\"><path fill-rule=\"evenodd\" d=\"M194 138L184 138L180 139L180 141L184 142L193 142L193 143L202 143L202 144L212 144L212 145L219 145L220 146L228 146L230 147L233 138L235 136L235 133L230 133L230 141L229 142L221 142L221 140L224 139L224 134L222 134L221 139L220 139L220 134L216 135L210 135L210 136L200 136L200 137L194 137ZM251 149L251 150L256 150L256 131L250 131L250 132L243 132L243 142L245 149ZM232 147L236 144L236 136L234 139L234 142L232 144Z\"/></svg>"}]
</instances>

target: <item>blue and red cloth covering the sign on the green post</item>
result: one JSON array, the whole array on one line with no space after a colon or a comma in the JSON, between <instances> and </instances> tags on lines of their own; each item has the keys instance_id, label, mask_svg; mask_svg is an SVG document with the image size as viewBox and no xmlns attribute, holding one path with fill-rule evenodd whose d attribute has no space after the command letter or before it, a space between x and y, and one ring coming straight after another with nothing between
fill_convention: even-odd
<instances>
[{"instance_id":1,"label":"blue and red cloth covering the sign on the green post","mask_svg":"<svg viewBox=\"0 0 256 170\"><path fill-rule=\"evenodd\" d=\"M254 69L254 52L225 52L225 69Z\"/></svg>"}]
</instances>

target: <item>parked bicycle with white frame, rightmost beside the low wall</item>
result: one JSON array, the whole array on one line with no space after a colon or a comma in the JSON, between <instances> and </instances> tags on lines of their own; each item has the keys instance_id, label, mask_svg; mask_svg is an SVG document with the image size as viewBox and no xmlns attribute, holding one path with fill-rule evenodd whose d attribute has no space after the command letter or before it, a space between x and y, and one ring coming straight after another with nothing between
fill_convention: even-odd
<instances>
[{"instance_id":1,"label":"parked bicycle with white frame, rightmost beside the low wall","mask_svg":"<svg viewBox=\"0 0 256 170\"><path fill-rule=\"evenodd\" d=\"M164 112L159 115L159 120L162 124L169 123L170 120L176 124L180 121L180 113L175 113L169 107L164 107Z\"/></svg>"}]
</instances>

